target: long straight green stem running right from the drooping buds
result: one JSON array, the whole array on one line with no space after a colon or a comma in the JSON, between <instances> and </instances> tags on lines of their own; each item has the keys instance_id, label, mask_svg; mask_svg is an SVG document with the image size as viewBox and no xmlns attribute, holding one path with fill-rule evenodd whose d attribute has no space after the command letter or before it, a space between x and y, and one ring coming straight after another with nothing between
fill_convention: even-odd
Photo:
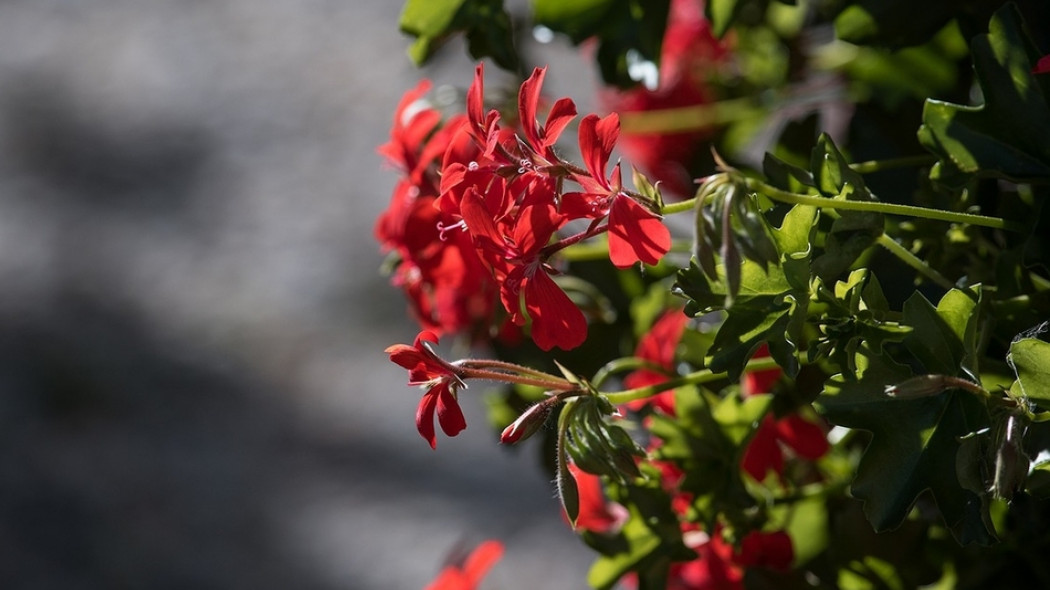
<instances>
[{"instance_id":1,"label":"long straight green stem running right from the drooping buds","mask_svg":"<svg viewBox=\"0 0 1050 590\"><path fill-rule=\"evenodd\" d=\"M847 201L844 198L827 198L812 194L801 194L785 191L771 186L757 178L741 178L748 189L760 192L774 201L789 203L792 205L808 205L822 209L836 209L843 211L869 211L873 213L885 213L888 215L905 215L909 217L922 217L926 219L938 219L941 222L951 222L956 224L969 224L986 228L1023 231L1018 224L1002 219L1000 217L989 217L985 215L973 215L971 213L958 213L956 211L942 211L939 209L927 209L925 207L915 207L912 205L897 205L895 203L883 203L880 201ZM848 185L843 191L848 190Z\"/></svg>"}]
</instances>

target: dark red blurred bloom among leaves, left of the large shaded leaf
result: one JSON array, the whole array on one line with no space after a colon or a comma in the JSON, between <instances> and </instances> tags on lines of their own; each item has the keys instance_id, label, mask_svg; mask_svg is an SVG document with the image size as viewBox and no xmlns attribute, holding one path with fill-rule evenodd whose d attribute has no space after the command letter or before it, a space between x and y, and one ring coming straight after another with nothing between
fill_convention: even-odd
<instances>
[{"instance_id":1,"label":"dark red blurred bloom among leaves, left of the large shaded leaf","mask_svg":"<svg viewBox=\"0 0 1050 590\"><path fill-rule=\"evenodd\" d=\"M755 357L769 357L765 344L762 344ZM747 373L741 381L741 389L746 396L765 394L779 379L779 368ZM741 467L758 481L764 480L770 471L780 476L784 469L785 448L802 459L815 461L827 454L831 444L821 424L811 422L798 414L789 414L779 419L766 414L744 450Z\"/></svg>"}]
</instances>

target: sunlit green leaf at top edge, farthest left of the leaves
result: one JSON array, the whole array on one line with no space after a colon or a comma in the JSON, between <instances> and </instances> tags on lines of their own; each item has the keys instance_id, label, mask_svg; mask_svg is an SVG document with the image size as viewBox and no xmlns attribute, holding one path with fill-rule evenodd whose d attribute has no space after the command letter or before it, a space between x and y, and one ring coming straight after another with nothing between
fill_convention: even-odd
<instances>
[{"instance_id":1,"label":"sunlit green leaf at top edge, farthest left of the leaves","mask_svg":"<svg viewBox=\"0 0 1050 590\"><path fill-rule=\"evenodd\" d=\"M491 58L505 69L518 65L510 16L503 0L407 0L400 26L402 33L416 38L408 48L416 65L426 63L458 33L466 36L474 59Z\"/></svg>"}]
</instances>

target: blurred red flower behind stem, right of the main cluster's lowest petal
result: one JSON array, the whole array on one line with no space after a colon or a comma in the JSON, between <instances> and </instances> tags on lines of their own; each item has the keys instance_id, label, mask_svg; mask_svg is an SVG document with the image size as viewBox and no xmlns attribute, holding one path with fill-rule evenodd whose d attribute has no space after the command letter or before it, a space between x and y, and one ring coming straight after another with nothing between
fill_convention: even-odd
<instances>
[{"instance_id":1,"label":"blurred red flower behind stem, right of the main cluster's lowest petal","mask_svg":"<svg viewBox=\"0 0 1050 590\"><path fill-rule=\"evenodd\" d=\"M624 377L624 386L629 389L656 385L670 379L674 374L674 352L681 340L681 334L689 323L689 316L681 310L674 309L664 314L653 323L652 329L638 340L634 356L647 360L663 368L663 372L651 368L632 371ZM629 409L637 410L645 405L652 405L669 416L674 416L674 392L664 392L645 400L627 403Z\"/></svg>"}]
</instances>

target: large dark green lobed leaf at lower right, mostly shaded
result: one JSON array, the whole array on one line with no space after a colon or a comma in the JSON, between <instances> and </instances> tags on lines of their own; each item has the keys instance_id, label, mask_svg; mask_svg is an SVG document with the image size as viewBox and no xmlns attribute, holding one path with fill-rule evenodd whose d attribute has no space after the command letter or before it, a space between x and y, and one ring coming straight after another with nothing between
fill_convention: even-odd
<instances>
[{"instance_id":1,"label":"large dark green lobed leaf at lower right, mostly shaded","mask_svg":"<svg viewBox=\"0 0 1050 590\"><path fill-rule=\"evenodd\" d=\"M959 391L889 398L885 386L914 374L866 346L858 351L857 366L859 379L835 375L817 403L835 424L872 433L852 487L867 520L878 531L894 529L929 490L960 543L990 544L994 532L985 525L986 508L960 484L956 462L948 459L957 456L963 437L988 426L984 403Z\"/></svg>"}]
</instances>

